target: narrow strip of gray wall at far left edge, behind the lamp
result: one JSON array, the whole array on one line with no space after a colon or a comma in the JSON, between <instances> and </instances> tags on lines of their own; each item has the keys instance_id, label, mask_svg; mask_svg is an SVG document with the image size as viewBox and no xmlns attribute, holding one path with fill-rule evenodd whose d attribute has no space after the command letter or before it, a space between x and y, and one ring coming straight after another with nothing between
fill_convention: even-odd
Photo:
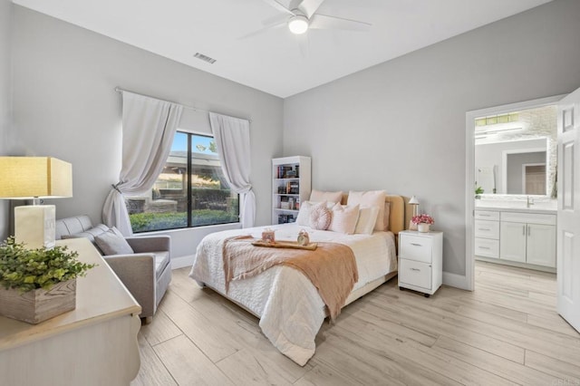
<instances>
[{"instance_id":1,"label":"narrow strip of gray wall at far left edge, behind the lamp","mask_svg":"<svg viewBox=\"0 0 580 386\"><path fill-rule=\"evenodd\" d=\"M0 156L10 151L10 37L12 3L0 0ZM8 201L0 200L0 240L8 233Z\"/></svg>"}]
</instances>

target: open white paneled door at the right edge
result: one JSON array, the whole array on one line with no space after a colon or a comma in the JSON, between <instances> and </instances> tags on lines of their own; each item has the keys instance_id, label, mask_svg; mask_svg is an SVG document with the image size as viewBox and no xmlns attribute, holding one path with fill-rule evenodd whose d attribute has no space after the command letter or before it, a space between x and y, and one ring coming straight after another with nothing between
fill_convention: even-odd
<instances>
[{"instance_id":1,"label":"open white paneled door at the right edge","mask_svg":"<svg viewBox=\"0 0 580 386\"><path fill-rule=\"evenodd\" d=\"M558 104L557 309L580 331L580 89Z\"/></svg>"}]
</instances>

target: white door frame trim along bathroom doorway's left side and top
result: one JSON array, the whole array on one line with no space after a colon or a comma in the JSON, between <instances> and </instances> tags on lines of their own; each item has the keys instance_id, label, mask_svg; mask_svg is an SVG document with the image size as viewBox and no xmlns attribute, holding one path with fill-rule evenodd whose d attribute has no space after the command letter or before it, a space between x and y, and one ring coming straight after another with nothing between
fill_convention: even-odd
<instances>
[{"instance_id":1,"label":"white door frame trim along bathroom doorway's left side and top","mask_svg":"<svg viewBox=\"0 0 580 386\"><path fill-rule=\"evenodd\" d=\"M508 112L529 110L557 104L567 94L539 98L531 101L519 101L465 113L465 276L469 291L475 290L475 120L476 118L501 115Z\"/></svg>"}]
</instances>

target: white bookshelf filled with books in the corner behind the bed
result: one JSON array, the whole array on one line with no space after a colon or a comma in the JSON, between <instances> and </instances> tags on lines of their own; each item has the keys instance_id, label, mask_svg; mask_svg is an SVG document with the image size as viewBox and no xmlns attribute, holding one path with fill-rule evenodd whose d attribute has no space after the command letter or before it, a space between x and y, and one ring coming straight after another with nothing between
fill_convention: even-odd
<instances>
[{"instance_id":1,"label":"white bookshelf filled with books in the corner behind the bed","mask_svg":"<svg viewBox=\"0 0 580 386\"><path fill-rule=\"evenodd\" d=\"M272 224L295 222L310 190L310 157L272 159Z\"/></svg>"}]
</instances>

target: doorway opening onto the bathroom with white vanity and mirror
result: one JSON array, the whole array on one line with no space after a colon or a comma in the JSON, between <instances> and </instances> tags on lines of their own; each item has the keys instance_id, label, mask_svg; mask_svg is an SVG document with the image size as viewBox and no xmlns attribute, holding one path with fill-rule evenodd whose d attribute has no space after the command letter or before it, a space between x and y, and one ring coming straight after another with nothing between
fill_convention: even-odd
<instances>
[{"instance_id":1,"label":"doorway opening onto the bathroom with white vanity and mirror","mask_svg":"<svg viewBox=\"0 0 580 386\"><path fill-rule=\"evenodd\" d=\"M556 272L557 101L469 111L466 274L475 260Z\"/></svg>"}]
</instances>

